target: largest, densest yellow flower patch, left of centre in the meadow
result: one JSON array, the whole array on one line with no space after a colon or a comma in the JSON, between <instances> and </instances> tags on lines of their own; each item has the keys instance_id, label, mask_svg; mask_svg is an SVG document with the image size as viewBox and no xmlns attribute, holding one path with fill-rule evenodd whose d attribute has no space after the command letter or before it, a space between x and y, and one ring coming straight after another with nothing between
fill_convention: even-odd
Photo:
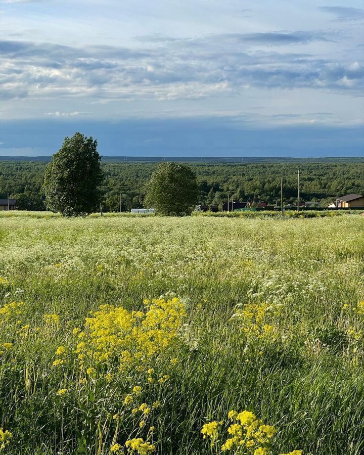
<instances>
[{"instance_id":1,"label":"largest, densest yellow flower patch, left of centre in the meadow","mask_svg":"<svg viewBox=\"0 0 364 455\"><path fill-rule=\"evenodd\" d=\"M178 298L145 300L144 305L144 312L103 305L87 317L85 330L74 332L81 368L110 367L117 361L119 370L147 370L148 361L176 337L186 312ZM168 379L163 376L160 383Z\"/></svg>"}]
</instances>

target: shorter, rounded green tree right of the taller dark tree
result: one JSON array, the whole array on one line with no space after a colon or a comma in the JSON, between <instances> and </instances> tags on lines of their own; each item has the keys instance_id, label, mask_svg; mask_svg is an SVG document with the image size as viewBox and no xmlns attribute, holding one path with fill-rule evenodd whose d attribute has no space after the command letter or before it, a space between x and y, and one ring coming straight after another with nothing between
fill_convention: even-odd
<instances>
[{"instance_id":1,"label":"shorter, rounded green tree right of the taller dark tree","mask_svg":"<svg viewBox=\"0 0 364 455\"><path fill-rule=\"evenodd\" d=\"M190 166L162 162L147 185L144 202L161 215L189 215L198 202L198 194L196 174Z\"/></svg>"}]
</instances>

